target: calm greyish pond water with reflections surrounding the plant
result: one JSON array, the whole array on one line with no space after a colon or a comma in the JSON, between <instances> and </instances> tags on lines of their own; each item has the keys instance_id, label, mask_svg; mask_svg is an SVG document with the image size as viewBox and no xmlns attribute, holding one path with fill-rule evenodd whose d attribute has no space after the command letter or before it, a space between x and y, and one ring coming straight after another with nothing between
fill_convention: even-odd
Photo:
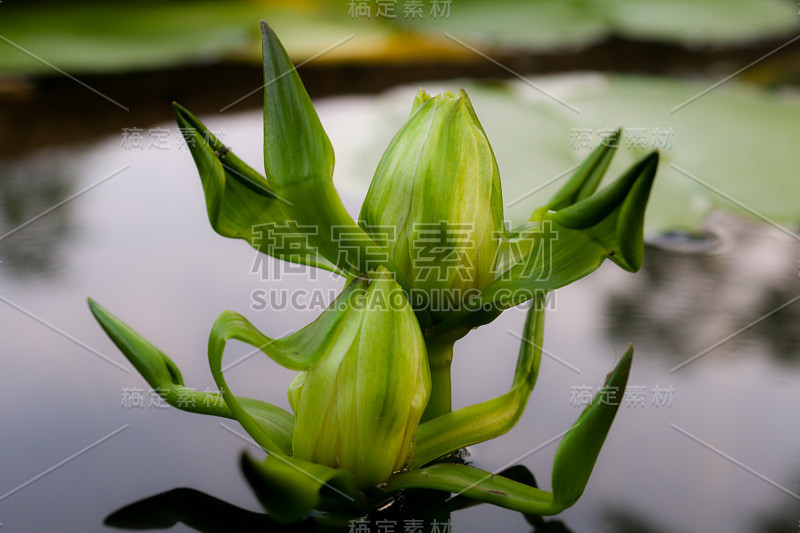
<instances>
[{"instance_id":1,"label":"calm greyish pond water with reflections surrounding the plant","mask_svg":"<svg viewBox=\"0 0 800 533\"><path fill-rule=\"evenodd\" d=\"M347 161L377 163L380 154L359 151L364 134L342 112L354 101L322 101L320 113L355 215L366 191L348 180ZM260 167L259 112L208 124ZM275 262L213 233L188 151L172 124L160 127L163 149L126 146L120 134L0 162L3 531L116 530L103 525L113 511L177 487L260 510L238 469L243 450L260 452L233 422L152 402L86 298L172 357L187 386L215 390L206 343L219 313L240 311L281 336L320 312L311 293L327 303L342 282L308 270L278 280ZM797 530L800 244L728 215L714 215L707 230L709 242L654 238L636 275L607 264L557 291L528 409L510 433L470 450L476 466L523 464L549 488L553 438L633 342L629 405L583 498L558 518L571 531ZM278 299L261 309L265 291L305 296L299 308ZM523 319L510 310L456 345L456 407L507 390L519 342L509 332ZM229 348L231 387L288 409L293 373L248 353ZM453 531L489 528L531 530L521 515L487 505L453 515Z\"/></svg>"}]
</instances>

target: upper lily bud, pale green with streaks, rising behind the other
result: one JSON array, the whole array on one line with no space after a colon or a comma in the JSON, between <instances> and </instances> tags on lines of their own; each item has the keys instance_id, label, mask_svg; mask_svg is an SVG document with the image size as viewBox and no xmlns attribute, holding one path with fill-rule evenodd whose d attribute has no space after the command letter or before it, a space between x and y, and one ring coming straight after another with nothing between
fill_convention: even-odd
<instances>
[{"instance_id":1,"label":"upper lily bud, pale green with streaks, rising behind the other","mask_svg":"<svg viewBox=\"0 0 800 533\"><path fill-rule=\"evenodd\" d=\"M359 224L413 289L461 301L494 280L502 204L497 162L467 94L420 90L381 158Z\"/></svg>"}]
</instances>

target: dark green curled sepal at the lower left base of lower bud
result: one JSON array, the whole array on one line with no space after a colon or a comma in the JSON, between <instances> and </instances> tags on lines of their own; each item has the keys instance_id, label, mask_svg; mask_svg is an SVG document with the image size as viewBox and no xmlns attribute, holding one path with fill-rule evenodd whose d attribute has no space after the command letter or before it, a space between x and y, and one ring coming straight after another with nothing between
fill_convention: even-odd
<instances>
[{"instance_id":1,"label":"dark green curled sepal at the lower left base of lower bud","mask_svg":"<svg viewBox=\"0 0 800 533\"><path fill-rule=\"evenodd\" d=\"M277 455L269 455L263 462L242 455L241 465L259 501L279 522L298 522L313 510L363 505L355 479L346 470Z\"/></svg>"}]
</instances>

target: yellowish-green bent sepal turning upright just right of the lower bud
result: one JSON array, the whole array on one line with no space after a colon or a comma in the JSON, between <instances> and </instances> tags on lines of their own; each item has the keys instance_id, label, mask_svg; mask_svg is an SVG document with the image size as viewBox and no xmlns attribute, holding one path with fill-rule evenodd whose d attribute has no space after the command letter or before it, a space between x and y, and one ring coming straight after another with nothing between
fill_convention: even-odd
<instances>
[{"instance_id":1,"label":"yellowish-green bent sepal turning upright just right of the lower bud","mask_svg":"<svg viewBox=\"0 0 800 533\"><path fill-rule=\"evenodd\" d=\"M539 295L531 303L525 319L511 390L492 400L462 407L421 424L417 430L412 468L502 435L514 427L525 410L539 374L544 314L544 295Z\"/></svg>"}]
</instances>

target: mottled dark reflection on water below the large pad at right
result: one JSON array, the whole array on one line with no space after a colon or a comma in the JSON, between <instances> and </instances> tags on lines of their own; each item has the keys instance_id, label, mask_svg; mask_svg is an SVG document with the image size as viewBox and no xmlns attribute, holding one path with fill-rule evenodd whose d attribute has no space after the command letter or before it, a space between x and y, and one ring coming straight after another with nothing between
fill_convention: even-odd
<instances>
[{"instance_id":1,"label":"mottled dark reflection on water below the large pad at right","mask_svg":"<svg viewBox=\"0 0 800 533\"><path fill-rule=\"evenodd\" d=\"M721 248L689 240L697 253L657 246L647 250L641 272L606 299L605 329L615 342L637 339L643 351L667 357L720 347L768 353L789 363L800 356L800 243L771 228L717 214L712 231L727 233ZM719 242L719 241L717 241ZM726 347L727 348L727 347Z\"/></svg>"}]
</instances>

